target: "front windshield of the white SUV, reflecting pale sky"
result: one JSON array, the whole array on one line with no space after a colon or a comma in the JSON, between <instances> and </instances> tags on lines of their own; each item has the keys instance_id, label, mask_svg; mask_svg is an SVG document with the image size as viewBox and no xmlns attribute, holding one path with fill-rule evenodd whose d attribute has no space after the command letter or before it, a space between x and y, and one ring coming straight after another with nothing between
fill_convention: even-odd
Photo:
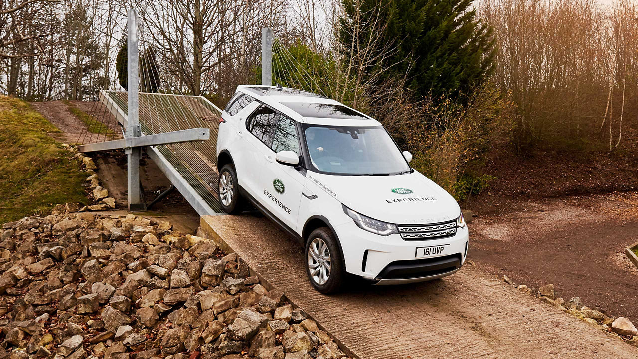
<instances>
[{"instance_id":1,"label":"front windshield of the white SUV, reflecting pale sky","mask_svg":"<svg viewBox=\"0 0 638 359\"><path fill-rule=\"evenodd\" d=\"M304 135L310 160L321 172L374 176L410 171L383 126L308 125Z\"/></svg>"}]
</instances>

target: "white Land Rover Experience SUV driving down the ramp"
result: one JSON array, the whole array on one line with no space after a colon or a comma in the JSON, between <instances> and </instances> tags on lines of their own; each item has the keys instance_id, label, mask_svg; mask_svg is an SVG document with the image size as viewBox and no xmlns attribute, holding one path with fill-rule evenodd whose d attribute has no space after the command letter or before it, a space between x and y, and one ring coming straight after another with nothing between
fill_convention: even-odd
<instances>
[{"instance_id":1,"label":"white Land Rover Experience SUV driving down the ramp","mask_svg":"<svg viewBox=\"0 0 638 359\"><path fill-rule=\"evenodd\" d=\"M244 201L304 245L322 293L346 273L375 284L450 275L463 265L468 229L458 204L410 167L373 118L291 88L239 86L219 123L219 199Z\"/></svg>"}]
</instances>

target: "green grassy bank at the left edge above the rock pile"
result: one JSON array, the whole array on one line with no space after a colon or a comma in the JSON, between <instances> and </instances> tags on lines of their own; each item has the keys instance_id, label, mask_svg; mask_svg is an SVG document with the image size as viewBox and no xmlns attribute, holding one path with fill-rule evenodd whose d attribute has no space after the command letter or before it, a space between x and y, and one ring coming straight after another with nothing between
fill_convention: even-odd
<instances>
[{"instance_id":1,"label":"green grassy bank at the left edge above the rock pile","mask_svg":"<svg viewBox=\"0 0 638 359\"><path fill-rule=\"evenodd\" d=\"M64 202L86 202L86 177L50 137L59 132L26 102L0 96L0 223L48 215Z\"/></svg>"}]
</instances>

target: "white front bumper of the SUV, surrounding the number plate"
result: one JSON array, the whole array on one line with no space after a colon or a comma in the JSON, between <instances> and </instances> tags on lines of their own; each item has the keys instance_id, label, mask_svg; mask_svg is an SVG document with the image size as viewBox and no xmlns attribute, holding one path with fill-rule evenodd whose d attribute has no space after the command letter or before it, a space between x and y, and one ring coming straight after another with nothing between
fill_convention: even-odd
<instances>
[{"instance_id":1,"label":"white front bumper of the SUV, surrounding the number plate","mask_svg":"<svg viewBox=\"0 0 638 359\"><path fill-rule=\"evenodd\" d=\"M463 265L468 248L468 229L436 240L406 241L400 234L380 236L354 222L335 228L341 243L346 271L375 284L422 282L450 275ZM416 258L417 247L445 246L440 256Z\"/></svg>"}]
</instances>

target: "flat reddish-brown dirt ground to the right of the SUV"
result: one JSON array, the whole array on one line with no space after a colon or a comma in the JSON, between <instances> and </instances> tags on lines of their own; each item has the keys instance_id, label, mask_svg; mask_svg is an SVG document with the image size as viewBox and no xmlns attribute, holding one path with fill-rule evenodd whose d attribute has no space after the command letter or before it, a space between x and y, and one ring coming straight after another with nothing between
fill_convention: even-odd
<instances>
[{"instance_id":1,"label":"flat reddish-brown dirt ground to the right of the SUV","mask_svg":"<svg viewBox=\"0 0 638 359\"><path fill-rule=\"evenodd\" d=\"M519 202L516 211L470 225L468 257L495 275L638 323L638 270L623 254L637 241L638 194Z\"/></svg>"}]
</instances>

